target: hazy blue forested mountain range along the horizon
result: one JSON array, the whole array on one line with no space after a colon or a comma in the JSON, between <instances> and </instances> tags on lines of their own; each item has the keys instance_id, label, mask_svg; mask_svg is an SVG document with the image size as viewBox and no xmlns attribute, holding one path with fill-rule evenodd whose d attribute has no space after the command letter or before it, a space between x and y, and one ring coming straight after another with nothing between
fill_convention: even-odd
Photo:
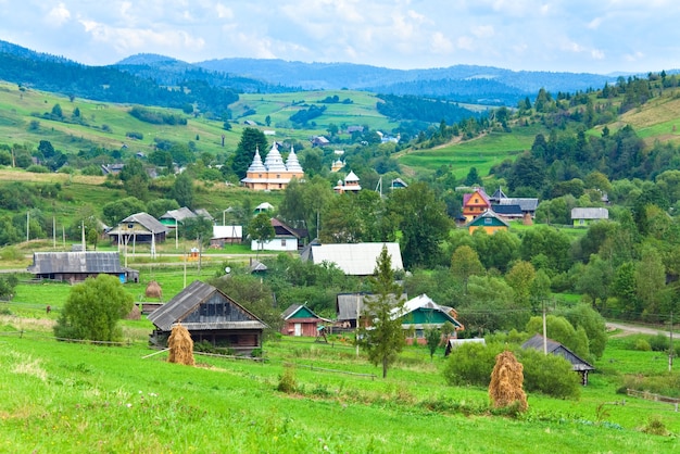
<instances>
[{"instance_id":1,"label":"hazy blue forested mountain range along the horizon","mask_svg":"<svg viewBox=\"0 0 680 454\"><path fill-rule=\"evenodd\" d=\"M62 56L33 51L0 41L0 67L17 60L33 65L49 64L50 71L33 76L37 88L59 88L74 91L78 72L101 74L101 85L115 78L113 72L133 75L144 83L177 86L187 80L201 80L212 87L236 92L284 92L301 90L366 90L385 94L437 98L456 102L514 106L525 97L534 97L540 88L551 92L576 92L602 88L614 83L615 75L589 73L553 73L503 70L493 66L455 65L424 70L393 70L352 63L304 63L265 59L222 59L187 63L171 56L136 54L111 66L86 66ZM68 67L71 80L50 83L54 65ZM22 80L22 72L0 70L0 78ZM42 78L42 80L38 80ZM78 90L85 96L84 88ZM97 93L95 93L97 94ZM126 100L121 100L126 101ZM129 100L127 100L129 101Z\"/></svg>"}]
</instances>

